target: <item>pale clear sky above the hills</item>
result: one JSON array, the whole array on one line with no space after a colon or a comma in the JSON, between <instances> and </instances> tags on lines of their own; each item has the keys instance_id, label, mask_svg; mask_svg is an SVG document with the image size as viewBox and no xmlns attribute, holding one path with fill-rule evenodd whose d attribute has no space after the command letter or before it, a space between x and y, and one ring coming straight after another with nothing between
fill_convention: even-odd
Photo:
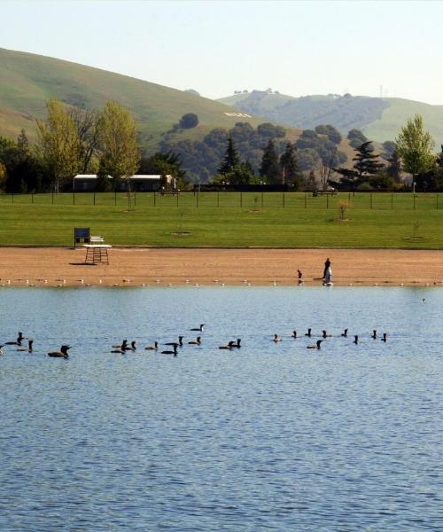
<instances>
[{"instance_id":1,"label":"pale clear sky above the hills","mask_svg":"<svg viewBox=\"0 0 443 532\"><path fill-rule=\"evenodd\" d=\"M0 0L0 21L2 48L206 98L272 88L443 105L439 1Z\"/></svg>"}]
</instances>

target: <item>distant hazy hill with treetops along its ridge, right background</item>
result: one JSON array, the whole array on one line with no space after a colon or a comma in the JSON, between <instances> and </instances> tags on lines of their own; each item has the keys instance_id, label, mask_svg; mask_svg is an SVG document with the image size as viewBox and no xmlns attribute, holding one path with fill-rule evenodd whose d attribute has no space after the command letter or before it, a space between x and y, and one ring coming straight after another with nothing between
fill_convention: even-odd
<instances>
[{"instance_id":1,"label":"distant hazy hill with treetops along its ridge, right background","mask_svg":"<svg viewBox=\"0 0 443 532\"><path fill-rule=\"evenodd\" d=\"M367 137L378 142L393 140L408 118L420 113L437 144L443 142L443 106L430 106L402 98L369 98L350 94L293 98L253 90L219 101L293 128L314 129L319 124L331 124L344 134L350 129L361 129Z\"/></svg>"}]
</instances>

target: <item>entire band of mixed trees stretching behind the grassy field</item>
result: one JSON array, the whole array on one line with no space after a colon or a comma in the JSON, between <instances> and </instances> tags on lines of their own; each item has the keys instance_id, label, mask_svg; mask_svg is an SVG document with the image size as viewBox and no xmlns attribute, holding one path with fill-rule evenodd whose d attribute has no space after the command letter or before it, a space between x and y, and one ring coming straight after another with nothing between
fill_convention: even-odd
<instances>
[{"instance_id":1,"label":"entire band of mixed trees stretching behind the grassy field","mask_svg":"<svg viewBox=\"0 0 443 532\"><path fill-rule=\"evenodd\" d=\"M254 129L247 122L229 130L212 129L201 141L180 139L181 130L197 125L197 115L183 115L164 135L159 152L143 153L135 119L117 102L89 110L51 99L46 120L37 121L35 145L29 144L24 130L15 142L0 137L0 189L58 192L70 190L76 174L97 174L97 190L105 191L110 189L108 176L115 185L136 173L170 174L183 188L187 171L195 180L197 167L200 182L234 186L392 189L404 186L408 172L417 191L443 190L443 146L435 156L434 141L420 115L408 120L395 141L383 143L381 153L361 131L351 129L347 135L354 147L351 168L343 166L346 154L338 149L342 136L330 125L305 129L292 143L281 126L263 123Z\"/></svg>"}]
</instances>

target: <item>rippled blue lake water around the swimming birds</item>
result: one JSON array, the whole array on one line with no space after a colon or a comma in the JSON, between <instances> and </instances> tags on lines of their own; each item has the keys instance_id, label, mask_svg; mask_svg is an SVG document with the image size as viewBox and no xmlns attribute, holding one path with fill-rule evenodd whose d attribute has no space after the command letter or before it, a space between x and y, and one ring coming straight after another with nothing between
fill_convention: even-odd
<instances>
[{"instance_id":1,"label":"rippled blue lake water around the swimming birds","mask_svg":"<svg viewBox=\"0 0 443 532\"><path fill-rule=\"evenodd\" d=\"M0 338L35 339L0 356L2 532L443 529L442 289L0 298ZM176 358L143 349L200 323ZM308 350L290 338L308 326L338 337ZM111 354L123 338L139 349ZM46 356L64 342L68 360Z\"/></svg>"}]
</instances>

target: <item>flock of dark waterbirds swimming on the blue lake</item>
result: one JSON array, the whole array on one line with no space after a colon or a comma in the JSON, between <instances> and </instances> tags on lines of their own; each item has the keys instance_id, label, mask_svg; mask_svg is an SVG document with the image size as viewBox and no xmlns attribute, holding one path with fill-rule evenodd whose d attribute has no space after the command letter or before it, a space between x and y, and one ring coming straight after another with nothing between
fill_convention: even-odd
<instances>
[{"instance_id":1,"label":"flock of dark waterbirds swimming on the blue lake","mask_svg":"<svg viewBox=\"0 0 443 532\"><path fill-rule=\"evenodd\" d=\"M190 329L190 331L203 332L204 331L204 327L205 327L205 324L201 324L198 327L194 327L194 328ZM339 336L342 337L342 338L349 338L348 334L347 334L348 331L349 331L348 329L345 329ZM323 330L321 338L319 340L316 340L315 344L307 345L307 349L321 349L323 341L326 340L327 338L332 338L332 336L333 336L332 334L328 334L327 331ZM292 333L291 333L291 338L294 339L294 340L297 340L297 339L303 338L303 337L314 338L315 335L312 333L312 329L307 329L307 332L304 335L302 335L302 336L299 336L297 331L292 331ZM152 345L145 347L144 350L146 350L146 351L159 351L159 353L161 353L162 355L177 356L178 355L178 348L183 348L183 345L185 345L183 343L183 338L184 338L184 336L181 335L181 336L178 337L177 341L168 341L166 343L161 344L163 346L167 346L168 347L168 348L165 348L163 350L161 350L161 348L159 347L159 341L155 341ZM370 338L372 340L381 340L383 342L386 342L387 341L387 334L386 334L386 332L384 332L382 337L379 338L377 336L377 330L374 329L372 331L372 334L370 335ZM22 345L24 340L27 340L27 348ZM282 337L280 337L278 334L274 334L274 338L272 339L272 341L274 341L275 343L277 343L279 341L282 341L282 340L283 340ZM237 338L237 341L236 340L229 340L229 342L227 344L223 344L223 345L219 346L219 349L229 349L229 350L239 349L239 348L241 348L241 341L242 341L241 338ZM19 332L19 336L17 337L17 340L7 341L3 345L0 345L0 355L4 355L4 350L3 350L4 346L16 346L17 347L16 351L32 353L33 352L33 343L34 343L34 340L27 339L26 336L23 336L23 332ZM355 345L358 345L360 343L358 334L354 334L353 343ZM189 340L187 342L187 344L188 345L192 345L192 346L200 346L202 344L202 336L201 336L201 334L195 340ZM71 348L71 346L69 346L67 344L63 344L58 351L50 351L48 353L48 356L51 356L52 358L68 358L69 357L68 350L70 348ZM123 355L123 354L125 354L127 352L130 352L130 351L136 351L136 349L137 349L137 341L136 340L132 340L130 343L128 343L128 340L122 340L122 342L120 344L116 344L116 345L112 346L111 353L118 353L120 355Z\"/></svg>"}]
</instances>

